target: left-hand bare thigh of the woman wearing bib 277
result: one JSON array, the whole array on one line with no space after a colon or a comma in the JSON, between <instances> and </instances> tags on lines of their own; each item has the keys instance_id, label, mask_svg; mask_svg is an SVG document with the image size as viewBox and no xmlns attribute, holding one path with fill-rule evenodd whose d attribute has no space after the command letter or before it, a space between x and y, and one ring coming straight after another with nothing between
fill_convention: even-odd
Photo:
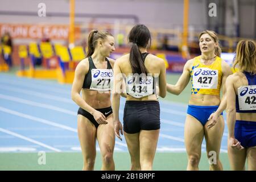
<instances>
[{"instance_id":1,"label":"left-hand bare thigh of the woman wearing bib 277","mask_svg":"<svg viewBox=\"0 0 256 182\"><path fill-rule=\"evenodd\" d=\"M83 155L96 155L96 127L89 119L77 115L77 131Z\"/></svg>"}]
</instances>

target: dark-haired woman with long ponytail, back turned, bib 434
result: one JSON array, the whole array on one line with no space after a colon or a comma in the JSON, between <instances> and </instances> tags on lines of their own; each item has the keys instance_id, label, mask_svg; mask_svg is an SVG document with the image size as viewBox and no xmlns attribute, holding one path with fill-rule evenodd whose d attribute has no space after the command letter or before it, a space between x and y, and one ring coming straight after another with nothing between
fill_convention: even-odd
<instances>
[{"instance_id":1,"label":"dark-haired woman with long ponytail, back turned, bib 434","mask_svg":"<svg viewBox=\"0 0 256 182\"><path fill-rule=\"evenodd\" d=\"M129 34L129 42L133 44L130 54L119 58L114 65L114 129L115 135L121 139L119 85L125 77L127 99L123 130L131 156L131 170L152 170L160 130L156 82L159 82L159 95L166 96L166 67L163 59L147 53L150 39L150 31L146 26L134 26Z\"/></svg>"}]
</instances>

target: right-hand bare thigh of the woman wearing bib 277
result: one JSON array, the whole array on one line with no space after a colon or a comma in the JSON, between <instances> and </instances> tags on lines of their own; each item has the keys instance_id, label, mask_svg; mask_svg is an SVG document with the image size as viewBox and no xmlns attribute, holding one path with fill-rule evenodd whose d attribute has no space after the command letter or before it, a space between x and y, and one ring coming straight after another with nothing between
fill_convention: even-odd
<instances>
[{"instance_id":1,"label":"right-hand bare thigh of the woman wearing bib 277","mask_svg":"<svg viewBox=\"0 0 256 182\"><path fill-rule=\"evenodd\" d=\"M108 124L99 125L97 129L97 139L101 152L113 152L115 145L115 133L113 114L107 118Z\"/></svg>"}]
</instances>

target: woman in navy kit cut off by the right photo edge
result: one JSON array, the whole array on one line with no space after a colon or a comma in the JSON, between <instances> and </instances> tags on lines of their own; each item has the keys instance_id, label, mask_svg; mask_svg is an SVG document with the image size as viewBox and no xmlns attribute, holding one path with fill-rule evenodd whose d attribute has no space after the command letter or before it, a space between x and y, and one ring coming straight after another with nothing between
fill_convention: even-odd
<instances>
[{"instance_id":1,"label":"woman in navy kit cut off by the right photo edge","mask_svg":"<svg viewBox=\"0 0 256 182\"><path fill-rule=\"evenodd\" d=\"M228 94L228 156L232 170L256 170L256 44L237 44L234 68L239 71L226 80Z\"/></svg>"}]
</instances>

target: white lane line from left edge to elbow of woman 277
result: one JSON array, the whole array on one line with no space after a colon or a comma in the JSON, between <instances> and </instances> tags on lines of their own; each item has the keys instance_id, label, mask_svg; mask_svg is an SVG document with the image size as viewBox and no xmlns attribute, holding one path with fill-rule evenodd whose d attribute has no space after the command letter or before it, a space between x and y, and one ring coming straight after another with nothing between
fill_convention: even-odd
<instances>
[{"instance_id":1,"label":"white lane line from left edge to elbow of woman 277","mask_svg":"<svg viewBox=\"0 0 256 182\"><path fill-rule=\"evenodd\" d=\"M7 91L11 91L11 92L18 92L18 93L27 94L27 95L30 95L30 96L47 98L49 100L55 100L55 101L69 103L69 104L75 104L75 102L73 102L71 100L71 98L68 99L68 98L53 96L51 94L35 92L35 91L27 90L27 89L20 89L20 88L14 87L14 86L6 86L6 85L2 85L2 84L0 84L0 88L1 88L1 90L7 90Z\"/></svg>"}]
</instances>

